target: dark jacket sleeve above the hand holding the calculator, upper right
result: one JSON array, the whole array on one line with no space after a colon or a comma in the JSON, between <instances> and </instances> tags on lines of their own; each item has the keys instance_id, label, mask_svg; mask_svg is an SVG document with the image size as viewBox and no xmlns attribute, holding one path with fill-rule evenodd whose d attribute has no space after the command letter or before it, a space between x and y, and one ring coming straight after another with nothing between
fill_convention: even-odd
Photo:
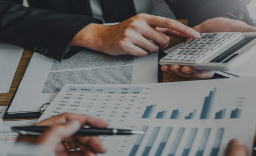
<instances>
[{"instance_id":1,"label":"dark jacket sleeve above the hand holding the calculator, upper right","mask_svg":"<svg viewBox=\"0 0 256 156\"><path fill-rule=\"evenodd\" d=\"M189 26L228 13L243 12L243 21L252 25L248 10L243 0L166 0L177 19L188 19Z\"/></svg>"}]
</instances>

